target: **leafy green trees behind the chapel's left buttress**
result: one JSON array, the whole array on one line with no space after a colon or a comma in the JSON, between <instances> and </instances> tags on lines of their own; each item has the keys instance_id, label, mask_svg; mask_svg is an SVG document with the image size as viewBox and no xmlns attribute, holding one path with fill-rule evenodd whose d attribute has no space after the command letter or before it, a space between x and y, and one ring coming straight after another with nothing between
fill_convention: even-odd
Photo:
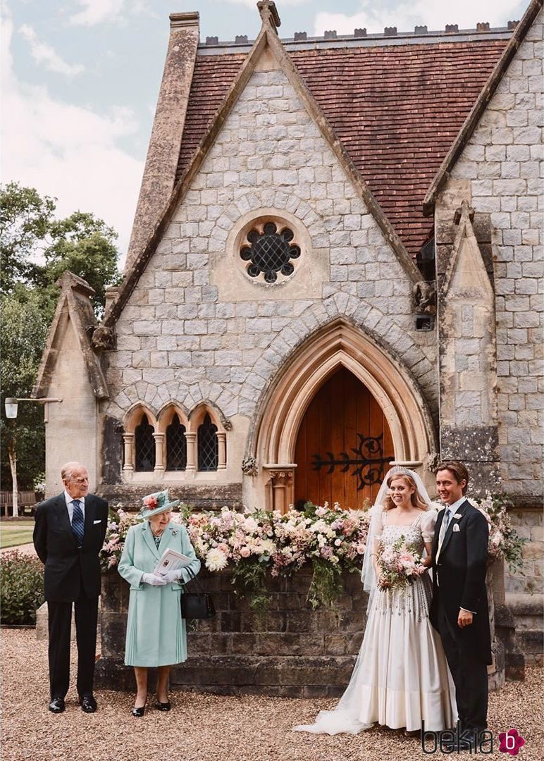
<instances>
[{"instance_id":1,"label":"leafy green trees behind the chapel's left buttress","mask_svg":"<svg viewBox=\"0 0 544 761\"><path fill-rule=\"evenodd\" d=\"M33 489L45 470L43 406L24 403L17 419L6 420L5 396L30 396L59 298L55 285L69 270L96 291L94 310L103 314L108 285L118 285L117 234L88 212L56 219L56 199L36 189L0 186L0 294L2 295L2 441L3 483L17 476L22 489Z\"/></svg>"}]
</instances>

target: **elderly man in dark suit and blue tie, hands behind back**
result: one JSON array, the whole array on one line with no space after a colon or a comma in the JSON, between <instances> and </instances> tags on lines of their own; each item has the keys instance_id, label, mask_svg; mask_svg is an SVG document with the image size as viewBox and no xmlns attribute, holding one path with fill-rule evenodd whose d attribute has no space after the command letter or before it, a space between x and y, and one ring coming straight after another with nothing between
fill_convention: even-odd
<instances>
[{"instance_id":1,"label":"elderly man in dark suit and blue tie, hands behind back","mask_svg":"<svg viewBox=\"0 0 544 761\"><path fill-rule=\"evenodd\" d=\"M88 494L89 474L81 463L61 470L64 492L36 508L33 541L45 565L43 584L49 618L49 711L62 713L70 680L70 632L75 603L78 643L78 696L81 709L94 713L94 658L97 645L100 561L108 504Z\"/></svg>"}]
</instances>

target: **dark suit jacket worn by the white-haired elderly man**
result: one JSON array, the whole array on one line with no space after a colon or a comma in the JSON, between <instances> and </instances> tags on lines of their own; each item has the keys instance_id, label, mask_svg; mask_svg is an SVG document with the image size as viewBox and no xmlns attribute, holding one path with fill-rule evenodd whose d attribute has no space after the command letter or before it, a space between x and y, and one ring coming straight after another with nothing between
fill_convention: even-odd
<instances>
[{"instance_id":1,"label":"dark suit jacket worn by the white-haired elderly man","mask_svg":"<svg viewBox=\"0 0 544 761\"><path fill-rule=\"evenodd\" d=\"M41 502L36 508L33 541L45 565L46 600L70 602L83 591L87 597L100 594L100 560L106 536L108 503L94 494L85 497L84 537L81 549L72 532L64 492Z\"/></svg>"}]
</instances>

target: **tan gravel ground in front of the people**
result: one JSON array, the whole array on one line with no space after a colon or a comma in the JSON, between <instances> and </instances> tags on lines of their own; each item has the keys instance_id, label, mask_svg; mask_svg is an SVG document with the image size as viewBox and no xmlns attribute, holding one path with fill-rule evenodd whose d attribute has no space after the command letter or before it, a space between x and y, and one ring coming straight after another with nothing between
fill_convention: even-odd
<instances>
[{"instance_id":1,"label":"tan gravel ground in front of the people","mask_svg":"<svg viewBox=\"0 0 544 761\"><path fill-rule=\"evenodd\" d=\"M516 727L525 738L518 759L540 759L542 670L527 669L525 683L492 693L490 729ZM386 729L351 735L299 734L329 699L223 697L173 693L173 709L129 715L132 695L97 692L98 711L81 712L75 689L64 714L47 710L47 645L35 632L2 630L2 761L414 761L421 741ZM507 759L498 751L498 759ZM434 757L447 758L441 753ZM453 756L458 758L457 753ZM469 758L468 754L463 754ZM485 756L488 757L488 756Z\"/></svg>"}]
</instances>

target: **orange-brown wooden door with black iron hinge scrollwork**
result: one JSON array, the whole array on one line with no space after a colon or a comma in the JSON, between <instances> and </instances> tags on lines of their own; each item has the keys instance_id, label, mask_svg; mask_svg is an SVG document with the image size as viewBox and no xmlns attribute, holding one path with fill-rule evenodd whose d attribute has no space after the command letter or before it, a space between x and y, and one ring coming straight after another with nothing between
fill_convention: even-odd
<instances>
[{"instance_id":1,"label":"orange-brown wooden door with black iron hinge scrollwork","mask_svg":"<svg viewBox=\"0 0 544 761\"><path fill-rule=\"evenodd\" d=\"M371 502L394 460L382 409L350 371L329 377L308 406L297 435L294 501L339 502L361 509Z\"/></svg>"}]
</instances>

